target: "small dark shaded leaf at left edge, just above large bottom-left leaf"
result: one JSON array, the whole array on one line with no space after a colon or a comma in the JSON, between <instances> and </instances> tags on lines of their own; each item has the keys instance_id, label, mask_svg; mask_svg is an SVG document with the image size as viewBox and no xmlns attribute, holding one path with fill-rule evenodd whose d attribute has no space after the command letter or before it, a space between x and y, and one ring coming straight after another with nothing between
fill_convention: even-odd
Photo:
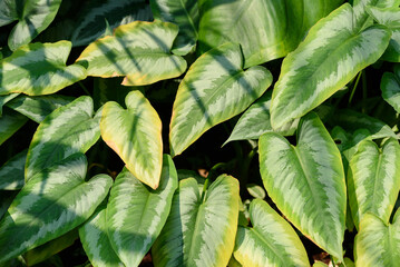
<instances>
[{"instance_id":1,"label":"small dark shaded leaf at left edge, just above large bottom-left leaf","mask_svg":"<svg viewBox=\"0 0 400 267\"><path fill-rule=\"evenodd\" d=\"M28 150L23 150L9 159L0 168L0 190L19 190L25 185L25 162Z\"/></svg>"}]
</instances>

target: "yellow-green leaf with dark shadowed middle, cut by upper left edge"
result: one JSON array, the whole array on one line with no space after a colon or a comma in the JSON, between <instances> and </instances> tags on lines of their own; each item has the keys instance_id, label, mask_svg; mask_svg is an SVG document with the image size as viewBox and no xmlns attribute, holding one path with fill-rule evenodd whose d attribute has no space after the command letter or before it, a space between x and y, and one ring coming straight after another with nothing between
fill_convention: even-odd
<instances>
[{"instance_id":1,"label":"yellow-green leaf with dark shadowed middle, cut by upper left edge","mask_svg":"<svg viewBox=\"0 0 400 267\"><path fill-rule=\"evenodd\" d=\"M31 43L0 61L0 95L49 95L86 78L79 65L66 66L69 41Z\"/></svg>"}]
</instances>

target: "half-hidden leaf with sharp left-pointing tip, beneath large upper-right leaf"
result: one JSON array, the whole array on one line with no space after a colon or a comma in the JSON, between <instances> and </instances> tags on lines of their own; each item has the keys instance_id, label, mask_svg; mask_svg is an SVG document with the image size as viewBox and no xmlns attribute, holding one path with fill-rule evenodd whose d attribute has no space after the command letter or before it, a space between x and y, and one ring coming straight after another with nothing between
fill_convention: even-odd
<instances>
[{"instance_id":1,"label":"half-hidden leaf with sharp left-pointing tip, beneath large upper-right leaf","mask_svg":"<svg viewBox=\"0 0 400 267\"><path fill-rule=\"evenodd\" d=\"M230 138L224 142L230 141L258 139L265 132L277 132L283 136L292 136L297 128L299 119L295 119L283 127L273 130L271 127L271 105L272 91L266 91L257 101L255 101L238 119Z\"/></svg>"}]
</instances>

